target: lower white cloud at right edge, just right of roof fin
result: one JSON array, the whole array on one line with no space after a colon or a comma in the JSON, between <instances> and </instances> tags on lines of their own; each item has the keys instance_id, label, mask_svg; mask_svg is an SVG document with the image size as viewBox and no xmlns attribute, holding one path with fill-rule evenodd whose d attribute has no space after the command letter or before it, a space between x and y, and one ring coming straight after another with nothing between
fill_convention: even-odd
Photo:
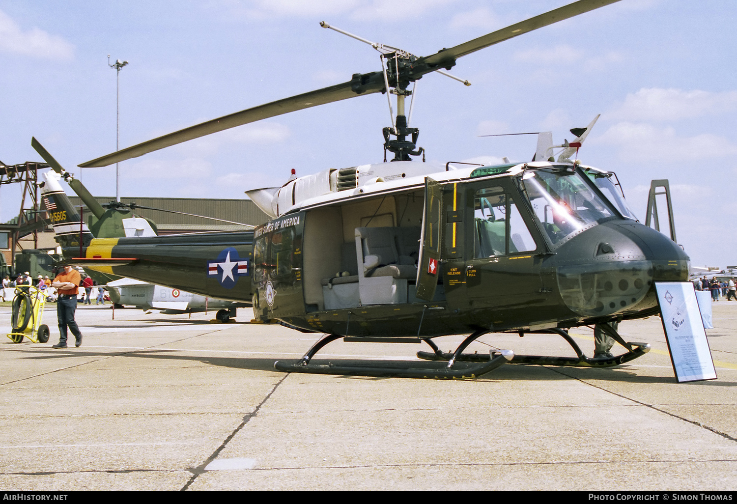
<instances>
[{"instance_id":1,"label":"lower white cloud at right edge, just right of roof fin","mask_svg":"<svg viewBox=\"0 0 737 504\"><path fill-rule=\"evenodd\" d=\"M598 141L618 145L627 158L642 161L696 161L737 155L737 145L723 136L711 133L678 136L674 127L645 123L619 122Z\"/></svg>"}]
</instances>

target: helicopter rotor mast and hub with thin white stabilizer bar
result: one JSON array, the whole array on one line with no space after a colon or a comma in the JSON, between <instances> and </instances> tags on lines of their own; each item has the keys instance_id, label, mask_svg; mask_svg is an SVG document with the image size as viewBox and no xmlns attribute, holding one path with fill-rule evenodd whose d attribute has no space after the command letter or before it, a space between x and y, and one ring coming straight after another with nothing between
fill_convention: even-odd
<instances>
[{"instance_id":1,"label":"helicopter rotor mast and hub with thin white stabilizer bar","mask_svg":"<svg viewBox=\"0 0 737 504\"><path fill-rule=\"evenodd\" d=\"M417 90L417 80L406 78L407 72L406 67L411 66L414 61L418 59L415 55L410 52L406 52L397 47L386 46L383 43L371 42L366 38L359 37L353 33L346 32L338 27L332 27L325 21L320 22L320 26L323 28L329 28L335 32L347 35L350 38L354 38L357 41L367 43L369 46L376 49L381 53L381 62L384 74L384 85L388 91L386 99L389 104L389 116L391 117L391 127L385 127L383 129L384 135L384 161L386 161L386 151L394 153L394 159L392 161L410 161L411 155L420 155L425 153L425 149L419 147L416 149L417 138L419 136L419 129L416 127L409 127L409 120L412 117L412 109L414 105L414 93ZM386 62L384 61L386 60ZM443 74L451 79L458 80L458 82L464 83L465 85L471 85L467 80L460 79L454 75L448 74L445 71L436 70L439 74ZM409 83L413 82L412 91L408 90ZM391 107L391 97L389 94L397 96L397 116L395 118L394 111ZM409 118L405 116L405 98L412 96L410 101L410 113ZM396 136L397 139L391 139L391 136ZM412 140L408 140L407 137L411 136ZM422 161L425 161L425 155L422 156Z\"/></svg>"}]
</instances>

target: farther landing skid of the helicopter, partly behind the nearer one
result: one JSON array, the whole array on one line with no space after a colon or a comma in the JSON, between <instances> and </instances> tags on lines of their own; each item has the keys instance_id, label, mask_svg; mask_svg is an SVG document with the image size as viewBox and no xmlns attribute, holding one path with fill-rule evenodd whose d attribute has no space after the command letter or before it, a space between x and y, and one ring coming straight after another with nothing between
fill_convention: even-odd
<instances>
[{"instance_id":1,"label":"farther landing skid of the helicopter, partly behind the nearer one","mask_svg":"<svg viewBox=\"0 0 737 504\"><path fill-rule=\"evenodd\" d=\"M568 344L573 348L573 351L576 352L576 357L553 357L553 356L547 356L547 355L514 355L514 357L511 359L512 364L536 364L536 365L572 365L572 366L578 366L578 367L584 367L584 368L609 368L614 365L624 364L629 362L630 360L637 359L638 357L642 357L644 354L650 351L650 343L635 343L634 341L625 342L622 340L621 336L617 334L617 332L614 331L614 329L611 329L609 327L603 329L604 331L609 333L609 336L613 337L617 343L624 346L627 351L624 354L617 355L615 357L601 357L598 359L593 359L592 357L587 357L583 351L581 351L581 348L576 344L576 341L573 340L570 335L568 335L567 332L565 332L562 329L548 329L546 331L541 331L545 333L551 333L555 335L562 336L563 339L565 339ZM426 340L430 346L433 347L434 352L430 353L429 351L418 351L417 357L420 359L426 359L426 360L447 360L450 361L455 357L455 360L461 361L461 362L467 362L467 363L475 363L479 362L484 359L485 354L458 354L455 355L455 353L458 352L458 350L455 351L454 354L450 354L448 352L440 351L437 346L435 346L433 343L430 342L430 340ZM465 342L464 342L465 343ZM461 345L463 345L461 343ZM459 347L460 348L460 347Z\"/></svg>"}]
</instances>

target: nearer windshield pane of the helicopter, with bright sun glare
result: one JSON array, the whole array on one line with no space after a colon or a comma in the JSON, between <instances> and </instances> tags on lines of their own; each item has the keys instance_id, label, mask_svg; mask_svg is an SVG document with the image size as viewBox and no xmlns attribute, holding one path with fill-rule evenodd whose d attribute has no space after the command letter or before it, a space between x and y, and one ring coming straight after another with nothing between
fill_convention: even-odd
<instances>
[{"instance_id":1,"label":"nearer windshield pane of the helicopter, with bright sun glare","mask_svg":"<svg viewBox=\"0 0 737 504\"><path fill-rule=\"evenodd\" d=\"M587 225L614 215L578 172L528 169L522 184L553 245Z\"/></svg>"}]
</instances>

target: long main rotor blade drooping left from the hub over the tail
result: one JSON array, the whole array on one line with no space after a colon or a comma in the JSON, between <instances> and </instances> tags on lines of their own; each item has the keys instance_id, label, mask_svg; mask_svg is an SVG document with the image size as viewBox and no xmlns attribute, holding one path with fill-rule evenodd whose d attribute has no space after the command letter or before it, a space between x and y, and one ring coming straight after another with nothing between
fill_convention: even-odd
<instances>
[{"instance_id":1,"label":"long main rotor blade drooping left from the hub over the tail","mask_svg":"<svg viewBox=\"0 0 737 504\"><path fill-rule=\"evenodd\" d=\"M379 93L384 90L384 77L382 72L374 71L368 74L354 74L352 80L347 83L329 86L328 88L298 94L294 97L276 100L265 105L248 108L245 111L231 113L228 116L219 117L200 123L199 125L184 128L174 133L159 136L156 139L144 141L114 153L103 155L100 158L87 161L79 166L82 168L107 167L110 164L136 158L139 155L151 153L154 150L181 144L183 141L197 139L200 136L227 130L231 127L248 124L249 122L280 116L283 113L300 111L303 108L315 107L326 103L338 102L341 99L357 97L363 94Z\"/></svg>"}]
</instances>

